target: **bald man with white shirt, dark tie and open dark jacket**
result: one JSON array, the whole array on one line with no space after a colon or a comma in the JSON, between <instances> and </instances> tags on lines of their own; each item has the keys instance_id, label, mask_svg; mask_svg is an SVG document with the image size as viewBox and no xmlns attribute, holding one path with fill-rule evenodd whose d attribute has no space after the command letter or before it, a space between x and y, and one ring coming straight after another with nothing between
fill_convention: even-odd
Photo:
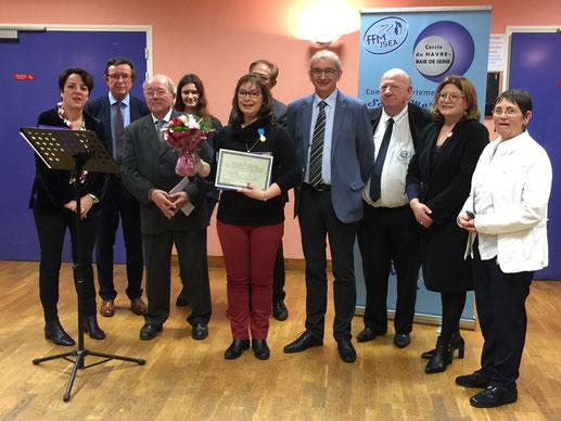
<instances>
[{"instance_id":1,"label":"bald man with white shirt, dark tie and open dark jacket","mask_svg":"<svg viewBox=\"0 0 561 421\"><path fill-rule=\"evenodd\" d=\"M365 329L357 341L372 341L387 331L387 277L393 261L397 273L394 344L400 348L411 341L420 267L419 225L405 178L419 135L432 123L428 110L409 102L411 91L411 79L404 71L393 68L382 76L382 106L370 111L375 161L362 191L365 217L357 235L367 291Z\"/></svg>"}]
</instances>

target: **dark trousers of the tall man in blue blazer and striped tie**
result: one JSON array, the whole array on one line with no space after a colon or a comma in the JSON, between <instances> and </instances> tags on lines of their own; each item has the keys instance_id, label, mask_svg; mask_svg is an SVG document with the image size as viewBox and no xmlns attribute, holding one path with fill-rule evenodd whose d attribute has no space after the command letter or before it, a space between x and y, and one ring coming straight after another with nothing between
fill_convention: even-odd
<instances>
[{"instance_id":1,"label":"dark trousers of the tall man in blue blazer and striped tie","mask_svg":"<svg viewBox=\"0 0 561 421\"><path fill-rule=\"evenodd\" d=\"M303 184L298 221L306 259L306 330L323 337L327 310L328 277L326 238L333 264L333 301L335 319L333 336L352 337L350 322L356 307L353 247L358 222L337 219L331 203L331 191L316 191Z\"/></svg>"}]
</instances>

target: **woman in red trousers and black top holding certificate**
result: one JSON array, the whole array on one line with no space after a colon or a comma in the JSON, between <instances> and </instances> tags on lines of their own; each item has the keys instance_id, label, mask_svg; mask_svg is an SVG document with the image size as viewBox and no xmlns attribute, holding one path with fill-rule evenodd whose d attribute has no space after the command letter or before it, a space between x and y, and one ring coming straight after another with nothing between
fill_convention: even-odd
<instances>
[{"instance_id":1,"label":"woman in red trousers and black top holding certificate","mask_svg":"<svg viewBox=\"0 0 561 421\"><path fill-rule=\"evenodd\" d=\"M227 272L228 318L233 336L225 358L238 358L248 349L251 332L255 357L268 359L272 267L284 230L280 194L296 186L299 167L293 141L275 123L272 97L258 76L245 75L238 81L232 106L234 118L217 135L217 152L271 155L273 160L268 188L246 183L246 188L225 190L218 205L217 231Z\"/></svg>"}]
</instances>

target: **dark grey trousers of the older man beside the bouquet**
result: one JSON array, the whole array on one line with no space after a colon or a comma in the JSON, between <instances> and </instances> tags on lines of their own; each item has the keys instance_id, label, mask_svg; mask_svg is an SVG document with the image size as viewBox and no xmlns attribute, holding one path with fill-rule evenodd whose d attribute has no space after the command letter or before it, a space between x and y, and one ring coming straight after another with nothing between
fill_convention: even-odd
<instances>
[{"instance_id":1,"label":"dark grey trousers of the older man beside the bouquet","mask_svg":"<svg viewBox=\"0 0 561 421\"><path fill-rule=\"evenodd\" d=\"M192 312L187 318L191 324L208 323L211 319L211 286L206 261L205 229L166 231L144 234L146 253L146 323L162 326L169 317L169 290L171 282L171 247L175 244L180 273L188 273L183 285Z\"/></svg>"}]
</instances>

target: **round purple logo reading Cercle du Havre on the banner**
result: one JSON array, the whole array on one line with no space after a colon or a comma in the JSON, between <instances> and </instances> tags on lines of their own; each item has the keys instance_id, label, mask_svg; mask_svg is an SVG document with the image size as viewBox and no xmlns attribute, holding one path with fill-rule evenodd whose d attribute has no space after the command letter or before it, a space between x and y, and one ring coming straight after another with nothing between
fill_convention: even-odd
<instances>
[{"instance_id":1,"label":"round purple logo reading Cercle du Havre on the banner","mask_svg":"<svg viewBox=\"0 0 561 421\"><path fill-rule=\"evenodd\" d=\"M429 25L419 34L413 48L415 66L434 82L449 75L463 75L473 63L474 54L471 34L451 21Z\"/></svg>"}]
</instances>

